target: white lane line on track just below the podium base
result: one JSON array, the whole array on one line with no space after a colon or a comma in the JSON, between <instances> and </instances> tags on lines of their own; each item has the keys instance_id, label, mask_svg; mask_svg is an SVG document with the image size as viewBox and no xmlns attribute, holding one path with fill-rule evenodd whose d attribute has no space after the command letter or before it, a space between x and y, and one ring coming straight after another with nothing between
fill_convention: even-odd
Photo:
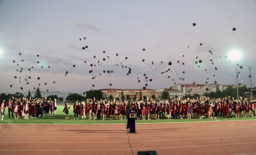
<instances>
[{"instance_id":1,"label":"white lane line on track just below the podium base","mask_svg":"<svg viewBox=\"0 0 256 155\"><path fill-rule=\"evenodd\" d=\"M207 132L207 133L190 133L190 134L169 134L169 135L139 135L139 136L130 136L130 137L150 137L150 136L178 136L178 135L201 135L201 134L219 134L219 133L233 133L233 132L254 132L256 130L250 130L250 131L228 131L228 132ZM29 132L31 133L31 132ZM42 132L40 132L42 133ZM63 132L61 132L63 133ZM4 136L1 136L4 138ZM8 137L9 136L5 136ZM10 136L10 137L38 137L38 136ZM40 137L52 137L53 136L39 136ZM128 136L54 136L54 137L74 137L74 138L78 138L78 137L128 137Z\"/></svg>"}]
</instances>

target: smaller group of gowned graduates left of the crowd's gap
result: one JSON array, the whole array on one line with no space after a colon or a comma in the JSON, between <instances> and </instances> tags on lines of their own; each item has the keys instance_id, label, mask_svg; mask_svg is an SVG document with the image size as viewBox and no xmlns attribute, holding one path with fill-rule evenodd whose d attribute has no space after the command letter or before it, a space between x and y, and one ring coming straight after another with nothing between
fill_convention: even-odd
<instances>
[{"instance_id":1,"label":"smaller group of gowned graduates left of the crowd's gap","mask_svg":"<svg viewBox=\"0 0 256 155\"><path fill-rule=\"evenodd\" d=\"M5 108L8 108L9 118L14 118L15 120L19 118L28 119L28 118L36 118L36 117L43 117L49 116L49 112L51 111L51 116L56 114L57 110L57 100L54 99L53 101L51 98L47 100L47 97L44 99L29 99L23 97L22 99L14 98L9 99L8 102L3 100L0 104L0 118L1 121L4 119L4 111ZM14 113L14 116L13 116Z\"/></svg>"}]
</instances>

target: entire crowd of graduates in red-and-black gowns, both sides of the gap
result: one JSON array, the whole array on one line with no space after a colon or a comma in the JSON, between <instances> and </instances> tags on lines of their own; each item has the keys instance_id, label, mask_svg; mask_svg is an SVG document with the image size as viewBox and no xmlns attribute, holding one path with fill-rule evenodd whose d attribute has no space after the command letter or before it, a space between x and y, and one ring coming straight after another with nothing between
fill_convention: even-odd
<instances>
[{"instance_id":1,"label":"entire crowd of graduates in red-and-black gowns, both sides of the gap","mask_svg":"<svg viewBox=\"0 0 256 155\"><path fill-rule=\"evenodd\" d=\"M170 98L160 102L159 100L152 100L147 98L147 100L130 100L131 111L138 112L137 119L151 120L160 117L166 117L167 119L191 119L208 117L213 118L227 118L227 117L254 117L256 101L247 100L247 98L240 100L230 99L230 97L225 97L223 99L217 99L210 101L209 98L205 99L180 99ZM74 105L69 105L63 100L65 107L63 112L65 113L65 118L68 119L69 109L72 108L74 113L74 119L86 119L89 120L126 120L126 108L127 101L117 101L117 100L95 100L87 99L86 101L76 101ZM8 108L9 118L12 114L14 119L28 119L49 116L50 112L53 116L56 114L57 104L56 99L51 100L45 97L44 99L27 99L27 98L14 98L10 99L8 102L1 102L1 120L4 118L4 110ZM14 116L13 116L14 114Z\"/></svg>"}]
</instances>

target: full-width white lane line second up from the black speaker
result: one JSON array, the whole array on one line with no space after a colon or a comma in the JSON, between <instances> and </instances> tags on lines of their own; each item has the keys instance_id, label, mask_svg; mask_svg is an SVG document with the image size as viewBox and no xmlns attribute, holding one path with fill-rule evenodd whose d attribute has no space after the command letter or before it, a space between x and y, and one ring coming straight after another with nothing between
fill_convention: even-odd
<instances>
[{"instance_id":1,"label":"full-width white lane line second up from the black speaker","mask_svg":"<svg viewBox=\"0 0 256 155\"><path fill-rule=\"evenodd\" d=\"M189 139L166 139L166 140L142 140L129 142L160 142L160 141L179 141L179 140L198 140L198 139L217 139L217 138L238 138L238 137L256 137L253 136L234 136L234 137L210 137L210 138L189 138ZM113 142L0 142L0 143L127 143L127 141L113 141Z\"/></svg>"}]
</instances>

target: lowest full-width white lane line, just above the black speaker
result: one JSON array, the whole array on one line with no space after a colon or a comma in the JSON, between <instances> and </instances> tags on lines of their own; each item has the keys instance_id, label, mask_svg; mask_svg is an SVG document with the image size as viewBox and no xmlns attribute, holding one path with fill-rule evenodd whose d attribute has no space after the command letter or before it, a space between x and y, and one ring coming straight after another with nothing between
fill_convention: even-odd
<instances>
[{"instance_id":1,"label":"lowest full-width white lane line, just above the black speaker","mask_svg":"<svg viewBox=\"0 0 256 155\"><path fill-rule=\"evenodd\" d=\"M204 146L219 146L219 145L239 145L239 144L256 144L253 143L231 143L231 144L212 144L212 145L192 145L192 146L176 146L176 147L156 147L156 148L132 148L132 150L153 150L153 149L173 149L173 148L188 148L188 147L204 147ZM1 151L119 151L129 149L94 149L94 150L1 150Z\"/></svg>"}]
</instances>

